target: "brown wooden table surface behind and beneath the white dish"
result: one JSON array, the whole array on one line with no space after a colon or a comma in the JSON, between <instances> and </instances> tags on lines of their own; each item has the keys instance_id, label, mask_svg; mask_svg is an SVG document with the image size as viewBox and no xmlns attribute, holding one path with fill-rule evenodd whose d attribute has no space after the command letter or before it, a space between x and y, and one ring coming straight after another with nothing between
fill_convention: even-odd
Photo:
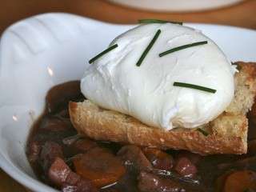
<instances>
[{"instance_id":1,"label":"brown wooden table surface behind and beneath the white dish","mask_svg":"<svg viewBox=\"0 0 256 192\"><path fill-rule=\"evenodd\" d=\"M2 0L0 33L22 18L46 12L80 14L105 22L135 23L139 18L158 18L182 22L205 22L256 29L256 0L235 6L194 13L155 13L116 6L104 0ZM26 189L0 170L1 192L23 192Z\"/></svg>"}]
</instances>

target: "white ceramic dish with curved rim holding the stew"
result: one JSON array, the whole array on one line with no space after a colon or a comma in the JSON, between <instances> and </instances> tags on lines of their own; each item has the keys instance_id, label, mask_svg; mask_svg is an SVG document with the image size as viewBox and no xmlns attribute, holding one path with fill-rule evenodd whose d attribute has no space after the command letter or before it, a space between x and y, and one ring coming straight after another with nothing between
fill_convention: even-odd
<instances>
[{"instance_id":1,"label":"white ceramic dish with curved rim holding the stew","mask_svg":"<svg viewBox=\"0 0 256 192\"><path fill-rule=\"evenodd\" d=\"M231 26L186 24L212 38L233 61L256 62L256 32ZM30 127L42 114L47 90L82 77L89 58L132 26L71 14L42 14L10 26L0 42L0 166L31 190L38 182L26 160Z\"/></svg>"}]
</instances>

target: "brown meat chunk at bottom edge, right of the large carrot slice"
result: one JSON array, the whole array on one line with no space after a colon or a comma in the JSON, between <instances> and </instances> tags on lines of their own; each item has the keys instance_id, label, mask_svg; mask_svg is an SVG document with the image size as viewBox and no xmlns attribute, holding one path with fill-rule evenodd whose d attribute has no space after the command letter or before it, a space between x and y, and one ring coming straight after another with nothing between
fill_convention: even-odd
<instances>
[{"instance_id":1,"label":"brown meat chunk at bottom edge, right of the large carrot slice","mask_svg":"<svg viewBox=\"0 0 256 192\"><path fill-rule=\"evenodd\" d=\"M138 188L142 192L185 192L177 182L168 178L159 178L155 174L142 171L138 177Z\"/></svg>"}]
</instances>

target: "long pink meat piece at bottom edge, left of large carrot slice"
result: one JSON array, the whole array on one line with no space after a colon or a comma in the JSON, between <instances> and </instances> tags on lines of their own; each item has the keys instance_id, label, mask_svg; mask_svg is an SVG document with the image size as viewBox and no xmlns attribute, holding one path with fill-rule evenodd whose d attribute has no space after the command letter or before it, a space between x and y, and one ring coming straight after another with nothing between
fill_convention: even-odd
<instances>
[{"instance_id":1,"label":"long pink meat piece at bottom edge, left of large carrot slice","mask_svg":"<svg viewBox=\"0 0 256 192\"><path fill-rule=\"evenodd\" d=\"M55 158L50 166L48 177L55 186L62 188L62 191L69 192L97 192L97 188L90 180L81 178L75 174L70 167L62 160Z\"/></svg>"}]
</instances>

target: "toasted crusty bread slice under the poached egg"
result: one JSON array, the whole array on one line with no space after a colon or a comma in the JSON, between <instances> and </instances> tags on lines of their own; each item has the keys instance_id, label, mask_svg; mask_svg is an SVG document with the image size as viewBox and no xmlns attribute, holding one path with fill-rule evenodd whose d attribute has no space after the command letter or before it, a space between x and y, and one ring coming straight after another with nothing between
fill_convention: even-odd
<instances>
[{"instance_id":1,"label":"toasted crusty bread slice under the poached egg","mask_svg":"<svg viewBox=\"0 0 256 192\"><path fill-rule=\"evenodd\" d=\"M233 101L218 118L203 126L162 130L146 126L129 115L102 109L89 100L70 102L71 122L78 133L96 140L190 150L198 154L245 154L248 130L246 113L254 103L256 63L236 64L239 73L235 75Z\"/></svg>"}]
</instances>

